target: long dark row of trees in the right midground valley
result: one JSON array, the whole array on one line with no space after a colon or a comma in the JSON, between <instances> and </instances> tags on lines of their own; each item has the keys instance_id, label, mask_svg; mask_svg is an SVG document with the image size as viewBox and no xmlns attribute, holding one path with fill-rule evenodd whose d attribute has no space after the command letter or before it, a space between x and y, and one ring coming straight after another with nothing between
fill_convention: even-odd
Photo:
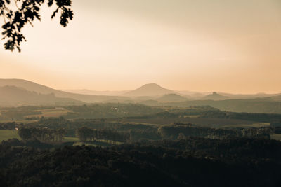
<instances>
[{"instance_id":1,"label":"long dark row of trees in the right midground valley","mask_svg":"<svg viewBox=\"0 0 281 187\"><path fill-rule=\"evenodd\" d=\"M270 127L248 128L248 129L215 129L210 127L198 127L192 124L164 125L159 127L159 134L164 139L183 139L183 137L270 137L273 129Z\"/></svg>"}]
</instances>

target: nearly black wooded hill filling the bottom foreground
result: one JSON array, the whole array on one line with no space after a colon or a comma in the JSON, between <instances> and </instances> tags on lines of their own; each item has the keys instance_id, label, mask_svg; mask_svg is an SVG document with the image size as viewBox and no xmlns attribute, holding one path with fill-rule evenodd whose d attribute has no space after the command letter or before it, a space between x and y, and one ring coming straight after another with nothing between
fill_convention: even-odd
<instances>
[{"instance_id":1,"label":"nearly black wooded hill filling the bottom foreground","mask_svg":"<svg viewBox=\"0 0 281 187\"><path fill-rule=\"evenodd\" d=\"M0 145L0 186L280 186L281 142L149 141L55 150Z\"/></svg>"}]
</instances>

